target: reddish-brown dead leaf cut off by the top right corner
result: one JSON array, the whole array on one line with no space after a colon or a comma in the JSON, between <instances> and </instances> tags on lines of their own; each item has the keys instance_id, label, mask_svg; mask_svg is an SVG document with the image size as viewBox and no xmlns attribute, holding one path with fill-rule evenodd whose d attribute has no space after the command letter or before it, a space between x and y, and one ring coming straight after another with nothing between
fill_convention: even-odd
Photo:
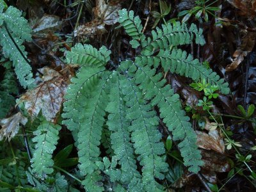
<instances>
[{"instance_id":1,"label":"reddish-brown dead leaf cut off by the top right corner","mask_svg":"<svg viewBox=\"0 0 256 192\"><path fill-rule=\"evenodd\" d=\"M237 9L241 10L241 15L246 15L249 19L256 17L256 1L252 0L228 0Z\"/></svg>"}]
</instances>

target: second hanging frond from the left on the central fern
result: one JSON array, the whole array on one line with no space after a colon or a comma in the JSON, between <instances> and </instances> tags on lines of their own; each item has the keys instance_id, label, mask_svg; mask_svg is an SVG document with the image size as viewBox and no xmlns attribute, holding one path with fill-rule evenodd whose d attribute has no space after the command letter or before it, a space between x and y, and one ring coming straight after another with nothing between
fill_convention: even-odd
<instances>
[{"instance_id":1,"label":"second hanging frond from the left on the central fern","mask_svg":"<svg viewBox=\"0 0 256 192\"><path fill-rule=\"evenodd\" d=\"M79 169L86 175L83 184L88 191L102 191L102 187L97 185L99 182L100 164L100 136L102 125L104 124L104 109L108 102L108 81L111 77L110 72L105 72L99 82L87 90L89 97L84 97L87 106L84 110L81 127L78 132L78 157ZM92 180L95 179L95 180ZM92 184L92 185L88 185Z\"/></svg>"}]
</instances>

